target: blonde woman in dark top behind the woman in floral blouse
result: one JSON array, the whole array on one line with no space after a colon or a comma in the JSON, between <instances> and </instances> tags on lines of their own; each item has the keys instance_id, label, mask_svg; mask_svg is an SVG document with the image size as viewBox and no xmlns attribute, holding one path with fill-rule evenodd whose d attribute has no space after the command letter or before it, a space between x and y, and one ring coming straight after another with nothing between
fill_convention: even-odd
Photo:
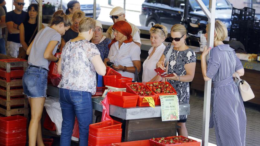
<instances>
[{"instance_id":1,"label":"blonde woman in dark top behind the woman in floral blouse","mask_svg":"<svg viewBox=\"0 0 260 146\"><path fill-rule=\"evenodd\" d=\"M85 13L83 11L78 10L78 11L74 12L74 14L72 16L72 25L71 25L70 29L68 31L66 31L62 37L60 52L62 52L63 46L65 46L66 42L68 42L70 39L78 37L79 22L84 17L85 17Z\"/></svg>"}]
</instances>

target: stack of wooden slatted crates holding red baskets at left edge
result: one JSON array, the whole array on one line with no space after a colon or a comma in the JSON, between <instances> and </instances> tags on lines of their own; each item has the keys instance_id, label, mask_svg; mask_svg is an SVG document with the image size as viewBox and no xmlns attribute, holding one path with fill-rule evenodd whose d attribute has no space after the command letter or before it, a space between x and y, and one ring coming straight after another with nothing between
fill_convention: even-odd
<instances>
[{"instance_id":1,"label":"stack of wooden slatted crates holding red baskets at left edge","mask_svg":"<svg viewBox=\"0 0 260 146\"><path fill-rule=\"evenodd\" d=\"M28 100L22 89L22 76L27 68L27 61L20 58L2 58L6 56L0 56L0 114L24 114L28 117Z\"/></svg>"}]
</instances>

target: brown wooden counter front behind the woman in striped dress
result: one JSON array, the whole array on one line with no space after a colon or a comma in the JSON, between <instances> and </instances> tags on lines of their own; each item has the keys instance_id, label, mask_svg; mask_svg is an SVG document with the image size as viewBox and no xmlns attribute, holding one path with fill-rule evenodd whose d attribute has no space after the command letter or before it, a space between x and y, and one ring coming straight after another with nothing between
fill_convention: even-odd
<instances>
[{"instance_id":1,"label":"brown wooden counter front behind the woman in striped dress","mask_svg":"<svg viewBox=\"0 0 260 146\"><path fill-rule=\"evenodd\" d=\"M192 90L204 91L204 80L201 71L201 54L202 52L196 52L196 69L194 79L191 82ZM245 74L241 77L242 80L246 80L251 86L255 98L248 102L260 105L260 63L257 61L241 61L245 69ZM194 92L194 91L193 91Z\"/></svg>"}]
</instances>

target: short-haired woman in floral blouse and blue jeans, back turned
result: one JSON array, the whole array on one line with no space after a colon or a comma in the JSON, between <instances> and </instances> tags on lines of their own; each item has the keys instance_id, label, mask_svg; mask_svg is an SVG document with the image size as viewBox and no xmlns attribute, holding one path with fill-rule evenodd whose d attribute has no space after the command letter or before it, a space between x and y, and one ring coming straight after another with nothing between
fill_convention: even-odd
<instances>
[{"instance_id":1,"label":"short-haired woman in floral blouse and blue jeans, back turned","mask_svg":"<svg viewBox=\"0 0 260 146\"><path fill-rule=\"evenodd\" d=\"M98 48L89 42L93 37L96 22L85 17L79 22L78 37L68 41L63 47L58 62L58 72L62 79L60 105L62 110L61 146L70 146L75 115L79 125L79 145L88 145L88 129L92 124L91 95L96 92L96 71L106 74Z\"/></svg>"}]
</instances>

